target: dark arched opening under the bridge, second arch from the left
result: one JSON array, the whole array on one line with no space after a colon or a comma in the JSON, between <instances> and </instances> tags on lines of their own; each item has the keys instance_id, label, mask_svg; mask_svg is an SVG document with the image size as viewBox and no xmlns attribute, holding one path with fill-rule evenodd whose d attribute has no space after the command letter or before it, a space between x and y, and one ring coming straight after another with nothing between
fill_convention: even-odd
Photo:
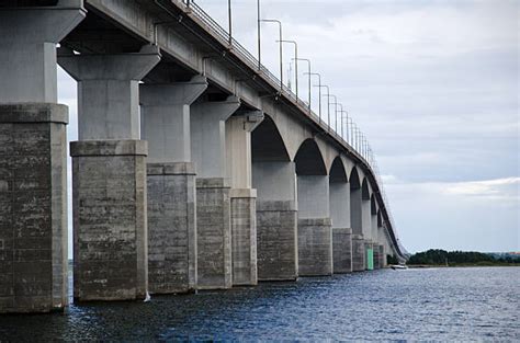
<instances>
[{"instance_id":1,"label":"dark arched opening under the bridge, second arch from the left","mask_svg":"<svg viewBox=\"0 0 520 343\"><path fill-rule=\"evenodd\" d=\"M296 163L297 175L327 175L327 167L319 150L318 145L314 139L306 139L299 146L296 156L294 157Z\"/></svg>"}]
</instances>

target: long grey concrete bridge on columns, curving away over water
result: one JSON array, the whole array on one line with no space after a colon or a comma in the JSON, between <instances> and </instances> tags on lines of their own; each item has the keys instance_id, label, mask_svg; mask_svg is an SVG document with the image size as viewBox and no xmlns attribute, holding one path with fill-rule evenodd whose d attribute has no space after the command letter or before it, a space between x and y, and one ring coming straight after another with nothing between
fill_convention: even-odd
<instances>
[{"instance_id":1,"label":"long grey concrete bridge on columns, curving away over water","mask_svg":"<svg viewBox=\"0 0 520 343\"><path fill-rule=\"evenodd\" d=\"M405 250L369 145L193 1L0 5L0 312L380 268ZM59 46L59 47L58 47ZM78 82L72 208L68 108Z\"/></svg>"}]
</instances>

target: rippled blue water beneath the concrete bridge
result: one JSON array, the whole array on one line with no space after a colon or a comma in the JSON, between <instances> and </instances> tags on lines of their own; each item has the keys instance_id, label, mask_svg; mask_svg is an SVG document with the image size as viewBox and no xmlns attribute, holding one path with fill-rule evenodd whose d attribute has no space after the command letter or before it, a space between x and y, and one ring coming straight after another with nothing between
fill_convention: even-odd
<instances>
[{"instance_id":1,"label":"rippled blue water beneath the concrete bridge","mask_svg":"<svg viewBox=\"0 0 520 343\"><path fill-rule=\"evenodd\" d=\"M520 267L357 273L0 317L0 341L520 340Z\"/></svg>"}]
</instances>

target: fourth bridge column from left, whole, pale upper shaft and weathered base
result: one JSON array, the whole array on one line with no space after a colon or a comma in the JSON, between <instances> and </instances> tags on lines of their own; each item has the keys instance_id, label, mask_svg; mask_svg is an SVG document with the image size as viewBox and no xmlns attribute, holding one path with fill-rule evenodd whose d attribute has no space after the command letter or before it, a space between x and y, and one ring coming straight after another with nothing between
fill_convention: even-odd
<instances>
[{"instance_id":1,"label":"fourth bridge column from left, whole, pale upper shaft and weathered base","mask_svg":"<svg viewBox=\"0 0 520 343\"><path fill-rule=\"evenodd\" d=\"M226 119L240 106L236 96L193 104L192 157L196 179L197 288L231 287L230 183L226 178Z\"/></svg>"}]
</instances>

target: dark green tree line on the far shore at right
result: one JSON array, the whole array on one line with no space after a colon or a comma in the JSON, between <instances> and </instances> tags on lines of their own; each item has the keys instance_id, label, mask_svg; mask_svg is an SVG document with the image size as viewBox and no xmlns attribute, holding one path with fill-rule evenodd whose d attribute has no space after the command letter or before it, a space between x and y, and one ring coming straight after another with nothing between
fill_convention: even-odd
<instances>
[{"instance_id":1,"label":"dark green tree line on the far shore at right","mask_svg":"<svg viewBox=\"0 0 520 343\"><path fill-rule=\"evenodd\" d=\"M497 255L476 251L445 251L430 249L412 254L407 264L426 265L509 265L520 264L520 255Z\"/></svg>"}]
</instances>

